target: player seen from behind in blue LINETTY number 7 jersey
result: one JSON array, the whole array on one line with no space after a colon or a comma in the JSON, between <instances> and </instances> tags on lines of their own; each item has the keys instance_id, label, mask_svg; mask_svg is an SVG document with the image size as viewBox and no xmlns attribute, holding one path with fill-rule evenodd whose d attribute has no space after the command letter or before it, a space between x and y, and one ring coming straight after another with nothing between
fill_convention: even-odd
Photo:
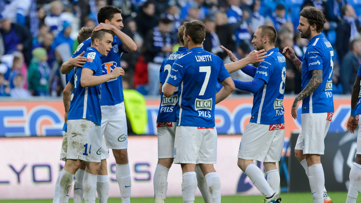
<instances>
[{"instance_id":1,"label":"player seen from behind in blue LINETTY number 7 jersey","mask_svg":"<svg viewBox=\"0 0 361 203\"><path fill-rule=\"evenodd\" d=\"M205 176L210 202L218 203L221 181L213 167L217 160L214 106L234 91L234 83L221 58L201 47L205 37L203 22L186 22L184 26L183 40L189 52L175 60L163 88L164 96L171 97L178 87L174 163L182 167L184 203L194 202L196 164ZM217 80L223 88L216 95Z\"/></svg>"}]
</instances>

